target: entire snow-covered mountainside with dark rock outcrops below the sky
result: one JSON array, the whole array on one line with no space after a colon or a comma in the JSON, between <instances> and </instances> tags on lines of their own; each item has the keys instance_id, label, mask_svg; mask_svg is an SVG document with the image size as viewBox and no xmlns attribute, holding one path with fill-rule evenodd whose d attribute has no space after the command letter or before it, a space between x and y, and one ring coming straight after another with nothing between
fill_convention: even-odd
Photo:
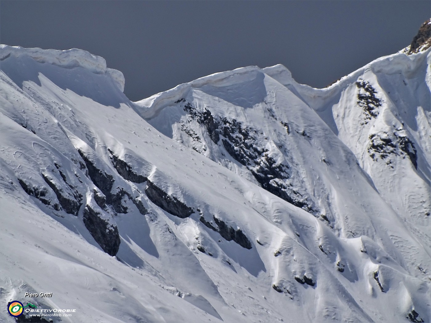
<instances>
[{"instance_id":1,"label":"entire snow-covered mountainside with dark rock outcrops below the sky","mask_svg":"<svg viewBox=\"0 0 431 323\"><path fill-rule=\"evenodd\" d=\"M429 49L139 102L83 50L0 53L0 321L430 322Z\"/></svg>"}]
</instances>

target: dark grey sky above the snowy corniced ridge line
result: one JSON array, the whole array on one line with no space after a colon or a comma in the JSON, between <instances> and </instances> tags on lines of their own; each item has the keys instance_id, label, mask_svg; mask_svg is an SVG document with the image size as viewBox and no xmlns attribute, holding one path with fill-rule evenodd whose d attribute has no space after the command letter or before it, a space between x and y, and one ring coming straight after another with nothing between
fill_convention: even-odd
<instances>
[{"instance_id":1,"label":"dark grey sky above the snowy corniced ridge line","mask_svg":"<svg viewBox=\"0 0 431 323\"><path fill-rule=\"evenodd\" d=\"M425 1L0 1L0 41L81 48L131 100L218 71L281 63L324 87L409 45Z\"/></svg>"}]
</instances>

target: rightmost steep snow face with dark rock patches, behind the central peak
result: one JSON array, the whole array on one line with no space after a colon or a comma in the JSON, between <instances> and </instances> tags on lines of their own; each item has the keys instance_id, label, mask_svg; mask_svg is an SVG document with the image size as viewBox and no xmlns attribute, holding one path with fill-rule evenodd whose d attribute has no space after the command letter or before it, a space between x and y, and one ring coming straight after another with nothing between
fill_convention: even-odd
<instances>
[{"instance_id":1,"label":"rightmost steep snow face with dark rock patches, behind the central peak","mask_svg":"<svg viewBox=\"0 0 431 323\"><path fill-rule=\"evenodd\" d=\"M430 50L378 59L327 89L286 82L355 154L380 195L419 238L430 214ZM272 74L272 68L265 69ZM278 77L279 73L274 73ZM423 227L425 226L425 227ZM415 229L416 230L416 229Z\"/></svg>"}]
</instances>

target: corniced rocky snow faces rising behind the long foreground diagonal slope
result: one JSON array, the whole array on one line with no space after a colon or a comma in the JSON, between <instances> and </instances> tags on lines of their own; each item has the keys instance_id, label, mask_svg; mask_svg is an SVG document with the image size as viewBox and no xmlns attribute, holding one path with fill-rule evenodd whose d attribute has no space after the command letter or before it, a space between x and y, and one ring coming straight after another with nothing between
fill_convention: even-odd
<instances>
[{"instance_id":1,"label":"corniced rocky snow faces rising behind the long foreground diagonal slope","mask_svg":"<svg viewBox=\"0 0 431 323\"><path fill-rule=\"evenodd\" d=\"M385 240L425 282L419 267L431 250L429 53L378 59L322 90L297 84L281 65L239 68L136 102L135 110L340 238ZM409 233L393 231L392 221ZM410 239L422 241L419 258L406 247Z\"/></svg>"}]
</instances>

